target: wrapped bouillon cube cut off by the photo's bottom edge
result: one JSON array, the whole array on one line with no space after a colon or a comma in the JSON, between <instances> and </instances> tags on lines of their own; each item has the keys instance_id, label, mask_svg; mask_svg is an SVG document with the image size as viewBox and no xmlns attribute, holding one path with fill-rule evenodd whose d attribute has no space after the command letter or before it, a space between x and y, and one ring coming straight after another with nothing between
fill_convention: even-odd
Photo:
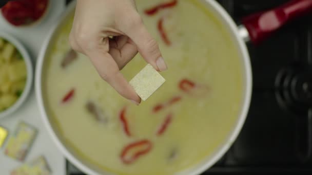
<instances>
[{"instance_id":1,"label":"wrapped bouillon cube cut off by the photo's bottom edge","mask_svg":"<svg viewBox=\"0 0 312 175\"><path fill-rule=\"evenodd\" d=\"M51 169L44 156L40 156L30 163L25 163L22 166L13 169L11 175L49 175Z\"/></svg>"}]
</instances>

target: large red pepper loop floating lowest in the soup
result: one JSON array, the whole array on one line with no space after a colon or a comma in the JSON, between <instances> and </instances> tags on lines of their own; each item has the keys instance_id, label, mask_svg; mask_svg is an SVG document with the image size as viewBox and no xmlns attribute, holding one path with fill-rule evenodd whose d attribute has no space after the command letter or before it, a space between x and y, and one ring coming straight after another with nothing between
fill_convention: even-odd
<instances>
[{"instance_id":1,"label":"large red pepper loop floating lowest in the soup","mask_svg":"<svg viewBox=\"0 0 312 175\"><path fill-rule=\"evenodd\" d=\"M133 154L130 154L131 150L136 150L138 148L142 149L139 149L138 151L133 152ZM151 148L152 143L149 140L147 139L140 140L124 147L123 151L121 152L120 158L123 161L123 163L131 164L135 160L139 159L141 156L147 154L151 150Z\"/></svg>"}]
</instances>

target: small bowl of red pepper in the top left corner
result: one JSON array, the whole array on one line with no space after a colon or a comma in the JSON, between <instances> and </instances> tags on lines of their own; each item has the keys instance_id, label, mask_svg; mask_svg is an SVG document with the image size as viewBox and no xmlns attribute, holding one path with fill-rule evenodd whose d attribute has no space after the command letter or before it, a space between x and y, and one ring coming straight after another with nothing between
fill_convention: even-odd
<instances>
[{"instance_id":1,"label":"small bowl of red pepper in the top left corner","mask_svg":"<svg viewBox=\"0 0 312 175\"><path fill-rule=\"evenodd\" d=\"M1 8L1 14L14 27L37 24L44 18L49 7L49 0L8 1Z\"/></svg>"}]
</instances>

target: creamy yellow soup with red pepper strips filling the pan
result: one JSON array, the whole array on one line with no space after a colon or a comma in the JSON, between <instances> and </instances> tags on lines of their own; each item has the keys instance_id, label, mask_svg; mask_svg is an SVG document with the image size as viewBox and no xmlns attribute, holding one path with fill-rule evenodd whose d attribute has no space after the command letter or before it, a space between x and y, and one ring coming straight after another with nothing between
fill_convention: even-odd
<instances>
[{"instance_id":1,"label":"creamy yellow soup with red pepper strips filling the pan","mask_svg":"<svg viewBox=\"0 0 312 175\"><path fill-rule=\"evenodd\" d=\"M67 148L94 169L116 174L173 174L211 155L236 124L244 82L241 59L230 35L196 0L179 1L152 16L144 13L161 2L136 1L168 64L168 70L161 72L166 82L139 106L102 80L86 56L77 54L64 66L73 13L57 30L49 48L43 80L50 120ZM162 17L171 45L158 29ZM145 65L138 54L122 73L130 80ZM181 89L183 79L191 83ZM179 100L170 103L174 97ZM165 107L154 112L159 104ZM148 144L127 149L142 140Z\"/></svg>"}]
</instances>

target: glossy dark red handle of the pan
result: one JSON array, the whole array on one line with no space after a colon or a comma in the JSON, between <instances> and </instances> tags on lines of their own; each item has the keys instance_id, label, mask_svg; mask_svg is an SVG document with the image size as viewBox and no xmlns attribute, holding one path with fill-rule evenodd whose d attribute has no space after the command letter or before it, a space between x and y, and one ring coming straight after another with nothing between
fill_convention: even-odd
<instances>
[{"instance_id":1,"label":"glossy dark red handle of the pan","mask_svg":"<svg viewBox=\"0 0 312 175\"><path fill-rule=\"evenodd\" d=\"M288 21L312 12L312 0L293 0L275 9L242 19L253 43L259 43Z\"/></svg>"}]
</instances>

